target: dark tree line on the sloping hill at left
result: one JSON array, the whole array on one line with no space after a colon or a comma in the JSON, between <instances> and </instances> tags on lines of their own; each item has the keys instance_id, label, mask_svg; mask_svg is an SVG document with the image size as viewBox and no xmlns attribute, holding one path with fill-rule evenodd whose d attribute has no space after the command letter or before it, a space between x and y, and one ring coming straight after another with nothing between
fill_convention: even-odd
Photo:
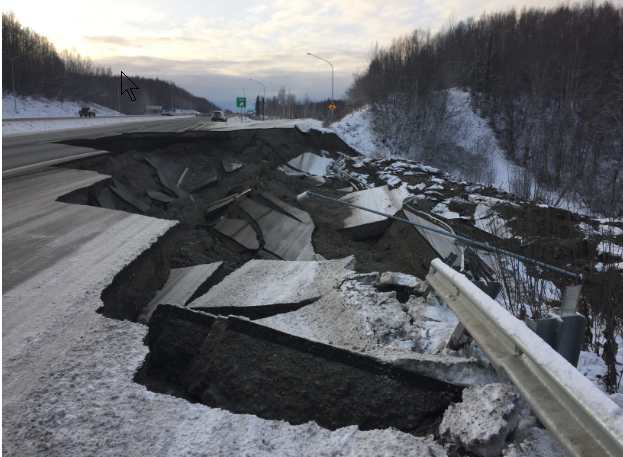
<instances>
[{"instance_id":1,"label":"dark tree line on the sloping hill at left","mask_svg":"<svg viewBox=\"0 0 623 457\"><path fill-rule=\"evenodd\" d=\"M126 114L143 114L147 105L209 112L217 107L172 82L131 76L140 88L136 102L120 95L120 75L69 52L59 53L47 38L2 14L2 86L5 92L98 103Z\"/></svg>"}]
</instances>

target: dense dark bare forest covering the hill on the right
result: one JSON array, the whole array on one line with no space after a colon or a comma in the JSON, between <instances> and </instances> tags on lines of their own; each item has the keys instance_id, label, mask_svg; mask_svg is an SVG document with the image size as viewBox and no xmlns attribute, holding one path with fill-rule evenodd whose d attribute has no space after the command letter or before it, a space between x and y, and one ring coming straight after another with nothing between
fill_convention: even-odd
<instances>
[{"instance_id":1,"label":"dense dark bare forest covering the hill on the right","mask_svg":"<svg viewBox=\"0 0 623 457\"><path fill-rule=\"evenodd\" d=\"M435 35L415 31L376 49L349 97L430 127L444 117L436 94L451 87L471 92L509 158L541 185L597 212L623 213L623 8L511 10Z\"/></svg>"}]
</instances>

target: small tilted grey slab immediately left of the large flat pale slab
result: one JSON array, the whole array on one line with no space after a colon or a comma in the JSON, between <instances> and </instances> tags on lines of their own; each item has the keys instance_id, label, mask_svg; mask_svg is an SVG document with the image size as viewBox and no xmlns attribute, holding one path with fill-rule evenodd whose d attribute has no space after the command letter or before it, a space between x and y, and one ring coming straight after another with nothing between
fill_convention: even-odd
<instances>
[{"instance_id":1,"label":"small tilted grey slab immediately left of the large flat pale slab","mask_svg":"<svg viewBox=\"0 0 623 457\"><path fill-rule=\"evenodd\" d=\"M223 262L213 262L186 268L173 268L165 285L156 292L156 296L143 308L139 322L148 322L158 305L186 306L188 300L205 283Z\"/></svg>"}]
</instances>

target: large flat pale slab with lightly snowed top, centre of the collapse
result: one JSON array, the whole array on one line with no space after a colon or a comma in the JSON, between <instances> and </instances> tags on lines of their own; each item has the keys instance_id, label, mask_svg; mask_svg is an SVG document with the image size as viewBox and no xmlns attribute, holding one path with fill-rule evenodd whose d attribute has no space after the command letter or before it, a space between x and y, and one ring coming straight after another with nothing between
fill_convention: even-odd
<instances>
[{"instance_id":1,"label":"large flat pale slab with lightly snowed top, centre of the collapse","mask_svg":"<svg viewBox=\"0 0 623 457\"><path fill-rule=\"evenodd\" d=\"M326 261L253 259L189 304L211 313L257 316L265 309L297 309L327 294L350 272L353 258Z\"/></svg>"}]
</instances>

